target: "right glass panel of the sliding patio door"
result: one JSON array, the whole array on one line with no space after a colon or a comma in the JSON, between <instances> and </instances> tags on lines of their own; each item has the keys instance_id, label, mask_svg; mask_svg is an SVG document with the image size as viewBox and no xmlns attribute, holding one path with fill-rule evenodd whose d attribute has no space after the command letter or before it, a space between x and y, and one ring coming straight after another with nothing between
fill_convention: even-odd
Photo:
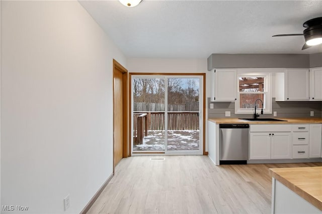
<instances>
[{"instance_id":1,"label":"right glass panel of the sliding patio door","mask_svg":"<svg viewBox=\"0 0 322 214\"><path fill-rule=\"evenodd\" d=\"M167 151L199 151L200 78L167 80Z\"/></svg>"}]
</instances>

